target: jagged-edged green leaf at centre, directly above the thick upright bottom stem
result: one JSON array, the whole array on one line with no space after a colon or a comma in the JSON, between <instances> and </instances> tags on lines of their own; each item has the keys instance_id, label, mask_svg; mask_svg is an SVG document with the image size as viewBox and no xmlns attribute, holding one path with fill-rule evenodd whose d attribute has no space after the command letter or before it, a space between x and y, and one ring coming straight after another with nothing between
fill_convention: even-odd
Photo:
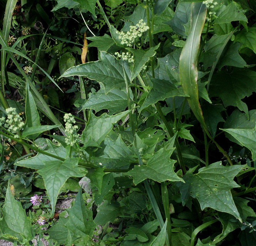
<instances>
[{"instance_id":1,"label":"jagged-edged green leaf at centre, directly above the thick upright bottom stem","mask_svg":"<svg viewBox=\"0 0 256 246\"><path fill-rule=\"evenodd\" d=\"M136 165L127 174L133 176L133 183L139 184L143 180L150 178L157 182L182 181L183 180L173 171L173 165L176 160L171 160L170 156L174 148L166 150L165 148L157 151L149 158L147 165Z\"/></svg>"}]
</instances>

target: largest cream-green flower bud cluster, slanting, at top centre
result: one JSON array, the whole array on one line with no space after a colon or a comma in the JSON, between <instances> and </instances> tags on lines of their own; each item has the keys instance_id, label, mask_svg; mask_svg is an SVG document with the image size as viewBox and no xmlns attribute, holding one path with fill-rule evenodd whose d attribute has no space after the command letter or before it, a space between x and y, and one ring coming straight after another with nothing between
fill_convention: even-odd
<instances>
[{"instance_id":1,"label":"largest cream-green flower bud cluster, slanting, at top centre","mask_svg":"<svg viewBox=\"0 0 256 246\"><path fill-rule=\"evenodd\" d=\"M143 33L145 33L149 27L146 23L141 19L136 26L130 26L130 29L127 33L121 31L118 35L118 38L121 39L121 44L124 44L128 47L132 47L132 44L136 41L136 39L140 38ZM118 34L118 32L117 32Z\"/></svg>"}]
</instances>

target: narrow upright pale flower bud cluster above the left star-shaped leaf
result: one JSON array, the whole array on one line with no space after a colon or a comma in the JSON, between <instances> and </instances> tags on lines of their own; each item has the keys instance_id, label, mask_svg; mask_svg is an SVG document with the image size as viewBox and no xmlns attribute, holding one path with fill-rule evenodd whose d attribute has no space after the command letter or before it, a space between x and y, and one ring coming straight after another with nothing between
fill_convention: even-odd
<instances>
[{"instance_id":1,"label":"narrow upright pale flower bud cluster above the left star-shaped leaf","mask_svg":"<svg viewBox=\"0 0 256 246\"><path fill-rule=\"evenodd\" d=\"M67 138L65 139L65 142L73 146L79 141L80 135L76 133L78 126L76 124L76 120L73 115L65 114L64 115L64 122L65 123L65 131L67 133Z\"/></svg>"}]
</instances>

